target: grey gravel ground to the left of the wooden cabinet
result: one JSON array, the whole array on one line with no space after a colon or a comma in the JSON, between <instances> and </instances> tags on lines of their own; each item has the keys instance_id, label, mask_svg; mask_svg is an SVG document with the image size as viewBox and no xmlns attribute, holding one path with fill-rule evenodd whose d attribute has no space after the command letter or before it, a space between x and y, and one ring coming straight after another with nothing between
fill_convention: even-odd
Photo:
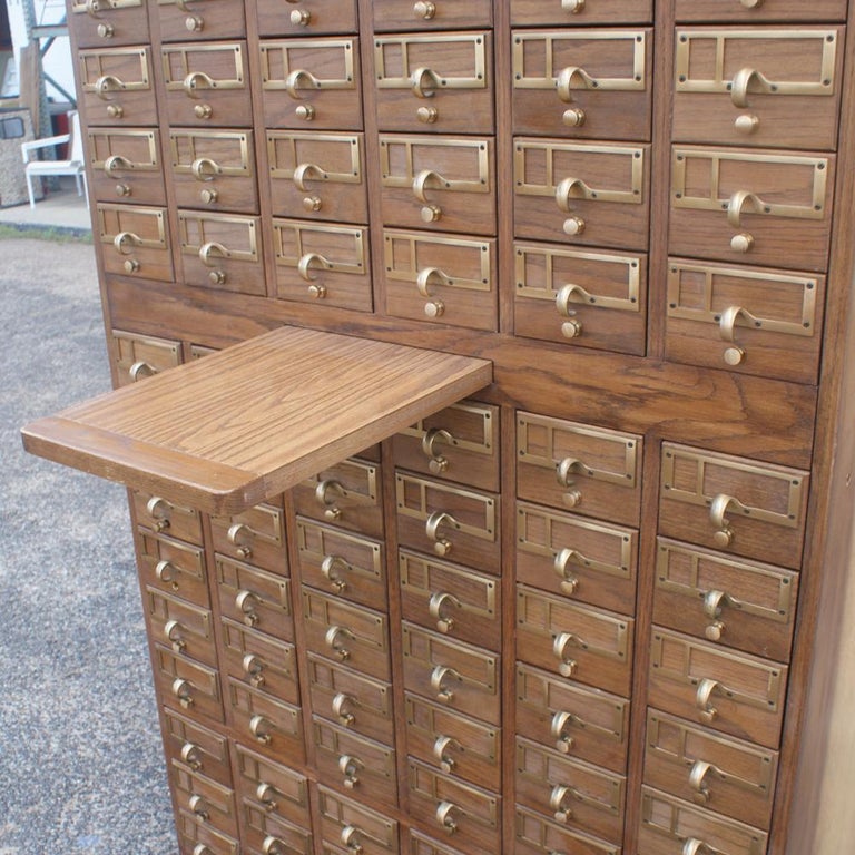
<instances>
[{"instance_id":1,"label":"grey gravel ground to the left of the wooden cabinet","mask_svg":"<svg viewBox=\"0 0 855 855\"><path fill-rule=\"evenodd\" d=\"M90 244L0 239L0 855L176 855L125 491L23 452L109 389Z\"/></svg>"}]
</instances>

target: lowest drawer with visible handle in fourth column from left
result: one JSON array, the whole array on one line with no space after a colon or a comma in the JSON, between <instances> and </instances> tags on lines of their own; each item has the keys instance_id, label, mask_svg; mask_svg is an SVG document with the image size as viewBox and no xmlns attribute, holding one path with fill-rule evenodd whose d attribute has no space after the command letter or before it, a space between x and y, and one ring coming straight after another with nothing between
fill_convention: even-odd
<instances>
[{"instance_id":1,"label":"lowest drawer with visible handle in fourth column from left","mask_svg":"<svg viewBox=\"0 0 855 855\"><path fill-rule=\"evenodd\" d=\"M454 846L471 855L501 852L501 799L488 790L407 760L410 814L434 834L454 835Z\"/></svg>"}]
</instances>

